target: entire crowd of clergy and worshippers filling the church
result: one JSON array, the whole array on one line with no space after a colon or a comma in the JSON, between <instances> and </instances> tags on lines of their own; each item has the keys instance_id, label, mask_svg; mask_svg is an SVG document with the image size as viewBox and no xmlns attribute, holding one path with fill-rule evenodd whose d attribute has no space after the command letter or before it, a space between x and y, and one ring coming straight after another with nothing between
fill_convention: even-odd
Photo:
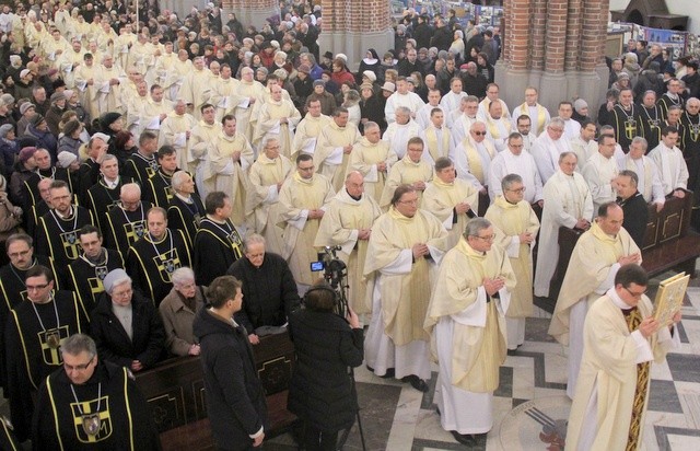
<instances>
[{"instance_id":1,"label":"entire crowd of clergy and worshippers filling the church","mask_svg":"<svg viewBox=\"0 0 700 451\"><path fill-rule=\"evenodd\" d=\"M525 340L533 296L550 294L560 227L585 233L550 333L571 348L568 394L591 397L594 382L576 388L599 357L588 345L599 332L586 325L588 307L592 314L600 297L623 309L640 302L631 290L648 285L639 274L648 205L661 210L700 183L697 60L630 43L610 61L596 123L586 100L549 112L535 88L506 105L493 82L499 28L463 26L452 10L429 18L409 9L394 49L348 61L319 55L323 11L311 2L280 2L279 20L260 30L222 18L213 3L186 18L159 2L135 8L18 0L0 13L0 236L9 258L0 268L0 375L20 440L55 443L47 437L66 426L42 403L56 403L59 384L88 380L90 389L62 395L75 398L85 440L135 440L105 432L107 424L117 431L108 419L119 414L101 403L103 382L95 389L92 374L107 393L129 372L201 354L213 372L207 390L220 393L208 396L210 412L236 425L236 443L225 447L257 446L266 418L259 386L246 384L255 378L250 345L289 319L306 356L290 409L305 420L308 449L331 447L358 408L348 401L337 405L342 417L319 413L308 396L324 394L312 382L342 380L341 368L364 359L377 377L428 391L433 357L441 424L474 444L492 428L499 367ZM330 322L310 334L332 310L323 290L310 290L325 246L338 246L348 267L350 326ZM641 361L661 357L650 346L672 334L634 317L622 335L640 349L646 343ZM71 342L74 334L92 338ZM317 348L315 336L332 337L342 358ZM219 367L221 352L238 360ZM310 367L313 359L336 360ZM68 379L51 379L61 366ZM241 390L218 385L229 371L247 374ZM640 379L639 393L648 382ZM339 386L338 396L354 395ZM212 426L224 447L230 426ZM606 440L583 430L582 443ZM610 440L637 443L635 430Z\"/></svg>"}]
</instances>

